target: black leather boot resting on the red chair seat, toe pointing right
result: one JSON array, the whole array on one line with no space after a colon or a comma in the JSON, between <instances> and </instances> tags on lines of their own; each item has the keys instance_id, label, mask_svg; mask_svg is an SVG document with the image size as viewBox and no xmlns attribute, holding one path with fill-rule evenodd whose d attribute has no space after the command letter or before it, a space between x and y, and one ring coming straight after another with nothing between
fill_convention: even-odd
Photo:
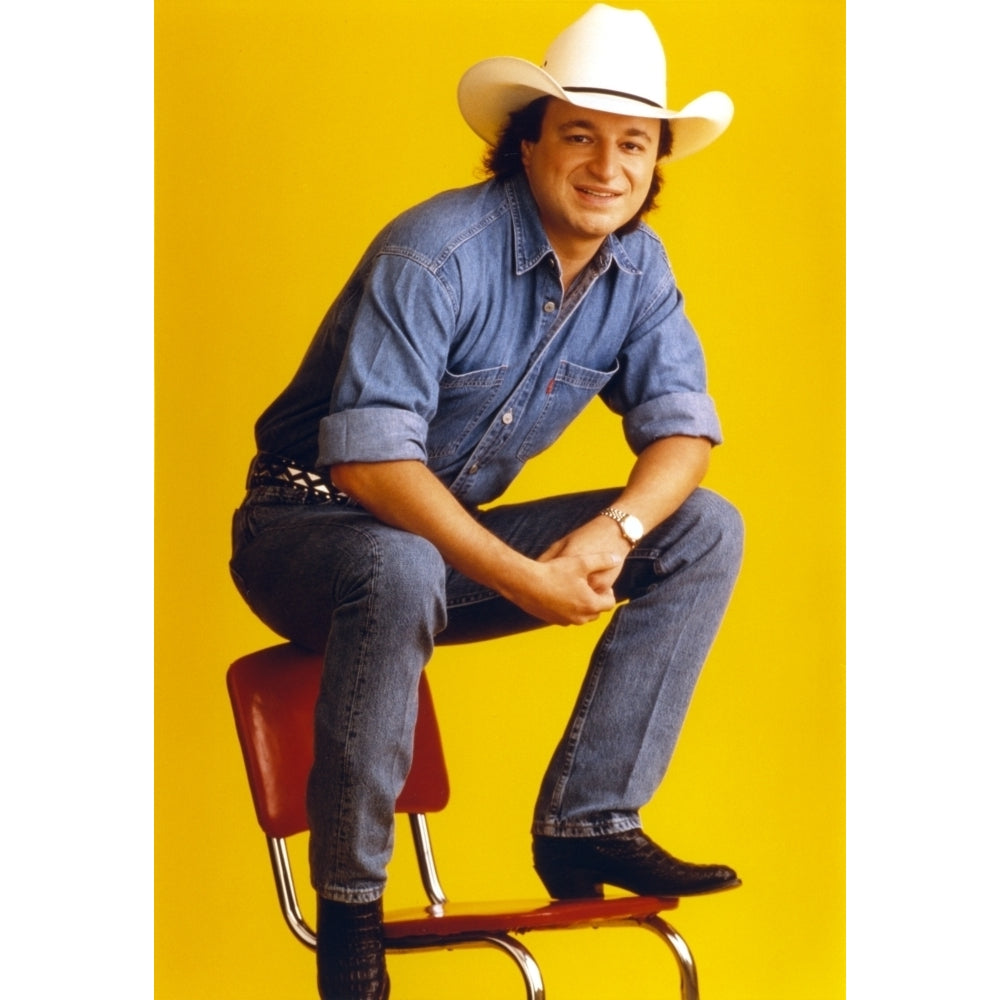
<instances>
[{"instance_id":1,"label":"black leather boot resting on the red chair seat, toe pointing right","mask_svg":"<svg viewBox=\"0 0 1000 1000\"><path fill-rule=\"evenodd\" d=\"M639 896L695 896L740 885L726 865L693 865L641 830L604 837L535 837L535 871L553 899L593 899L614 885Z\"/></svg>"}]
</instances>

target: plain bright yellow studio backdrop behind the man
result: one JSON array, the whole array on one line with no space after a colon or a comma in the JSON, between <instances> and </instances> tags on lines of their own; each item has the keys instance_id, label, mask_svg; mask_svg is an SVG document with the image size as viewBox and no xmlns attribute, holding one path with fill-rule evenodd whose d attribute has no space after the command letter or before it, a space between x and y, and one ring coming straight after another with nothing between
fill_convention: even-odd
<instances>
[{"instance_id":1,"label":"plain bright yellow studio backdrop behind the man","mask_svg":"<svg viewBox=\"0 0 1000 1000\"><path fill-rule=\"evenodd\" d=\"M454 99L478 59L540 60L588 3L160 0L156 5L156 995L315 995L285 930L224 687L276 641L226 567L252 424L375 231L479 179ZM736 104L666 170L664 236L726 443L708 485L747 554L645 827L744 886L682 902L705 1000L829 1000L844 975L844 8L660 0L670 103ZM599 407L512 490L622 479ZM444 649L431 676L453 804L432 829L453 898L532 896L530 808L596 626ZM389 905L412 890L402 843ZM398 871L397 871L398 869ZM528 939L550 1000L670 995L635 931ZM617 963L627 963L624 967ZM624 968L626 971L622 971ZM485 951L390 957L393 997L521 995Z\"/></svg>"}]
</instances>

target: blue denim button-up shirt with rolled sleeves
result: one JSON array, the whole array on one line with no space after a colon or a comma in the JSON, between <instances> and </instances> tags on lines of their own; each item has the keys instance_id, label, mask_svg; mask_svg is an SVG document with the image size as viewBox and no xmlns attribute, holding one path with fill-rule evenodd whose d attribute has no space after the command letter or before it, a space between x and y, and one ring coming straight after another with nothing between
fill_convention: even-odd
<instances>
[{"instance_id":1,"label":"blue denim button-up shirt with rolled sleeves","mask_svg":"<svg viewBox=\"0 0 1000 1000\"><path fill-rule=\"evenodd\" d=\"M564 295L519 175L440 194L375 238L257 445L316 468L416 459L476 505L597 394L637 454L675 434L721 441L659 237L609 237Z\"/></svg>"}]
</instances>

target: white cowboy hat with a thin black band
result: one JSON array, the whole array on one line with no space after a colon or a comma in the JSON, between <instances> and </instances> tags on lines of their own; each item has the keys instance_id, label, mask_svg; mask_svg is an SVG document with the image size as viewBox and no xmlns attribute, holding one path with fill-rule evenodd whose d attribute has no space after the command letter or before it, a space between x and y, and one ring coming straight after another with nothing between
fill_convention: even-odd
<instances>
[{"instance_id":1,"label":"white cowboy hat with a thin black band","mask_svg":"<svg viewBox=\"0 0 1000 1000\"><path fill-rule=\"evenodd\" d=\"M668 110L667 60L652 21L641 10L603 3L557 36L541 67L498 56L476 63L458 84L462 117L490 145L512 111L545 95L593 111L669 119L671 160L704 149L733 117L733 102L717 90Z\"/></svg>"}]
</instances>

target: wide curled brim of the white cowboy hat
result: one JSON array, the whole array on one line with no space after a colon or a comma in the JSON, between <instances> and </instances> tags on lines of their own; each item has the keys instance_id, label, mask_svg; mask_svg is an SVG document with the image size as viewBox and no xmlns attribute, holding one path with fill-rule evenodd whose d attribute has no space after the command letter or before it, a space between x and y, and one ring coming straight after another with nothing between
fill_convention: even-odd
<instances>
[{"instance_id":1,"label":"wide curled brim of the white cowboy hat","mask_svg":"<svg viewBox=\"0 0 1000 1000\"><path fill-rule=\"evenodd\" d=\"M467 70L458 83L462 117L491 146L499 139L510 113L538 97L557 97L592 111L669 120L674 137L671 161L704 149L725 132L733 118L732 100L718 90L702 94L680 111L670 111L627 94L566 91L545 70L516 56L484 59Z\"/></svg>"}]
</instances>

